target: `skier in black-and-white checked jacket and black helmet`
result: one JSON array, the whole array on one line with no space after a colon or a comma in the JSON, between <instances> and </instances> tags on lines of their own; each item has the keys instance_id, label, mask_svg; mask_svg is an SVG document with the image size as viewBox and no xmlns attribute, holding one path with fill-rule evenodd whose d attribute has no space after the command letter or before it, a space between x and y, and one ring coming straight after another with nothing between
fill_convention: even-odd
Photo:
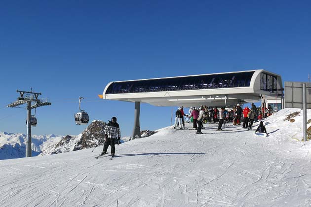
<instances>
[{"instance_id":1,"label":"skier in black-and-white checked jacket and black helmet","mask_svg":"<svg viewBox=\"0 0 311 207\"><path fill-rule=\"evenodd\" d=\"M111 156L114 157L116 152L115 140L117 139L119 141L121 138L121 131L116 117L111 118L111 121L105 126L104 132L105 142L101 155L106 154L109 145L111 145Z\"/></svg>"}]
</instances>

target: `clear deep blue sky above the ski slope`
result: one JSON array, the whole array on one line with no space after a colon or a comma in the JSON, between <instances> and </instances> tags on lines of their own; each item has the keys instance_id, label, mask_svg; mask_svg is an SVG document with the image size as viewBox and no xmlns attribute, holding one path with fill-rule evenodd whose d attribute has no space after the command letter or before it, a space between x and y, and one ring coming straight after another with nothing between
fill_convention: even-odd
<instances>
[{"instance_id":1,"label":"clear deep blue sky above the ski slope","mask_svg":"<svg viewBox=\"0 0 311 207\"><path fill-rule=\"evenodd\" d=\"M311 1L1 1L0 131L26 133L16 89L41 92L33 134L78 135L91 120L133 129L134 104L103 101L110 81L266 69L308 81ZM173 108L175 111L176 109ZM141 105L141 129L170 125L172 107Z\"/></svg>"}]
</instances>

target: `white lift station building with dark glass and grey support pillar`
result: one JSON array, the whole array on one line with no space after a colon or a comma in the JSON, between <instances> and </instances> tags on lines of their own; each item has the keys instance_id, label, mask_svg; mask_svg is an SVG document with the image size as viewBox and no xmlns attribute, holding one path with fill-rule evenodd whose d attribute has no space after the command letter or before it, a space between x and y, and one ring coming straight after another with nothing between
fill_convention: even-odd
<instances>
[{"instance_id":1,"label":"white lift station building with dark glass and grey support pillar","mask_svg":"<svg viewBox=\"0 0 311 207\"><path fill-rule=\"evenodd\" d=\"M140 103L185 107L232 106L275 99L282 93L281 76L264 69L201 75L113 81L105 87L107 100L135 103L133 138L140 137Z\"/></svg>"}]
</instances>

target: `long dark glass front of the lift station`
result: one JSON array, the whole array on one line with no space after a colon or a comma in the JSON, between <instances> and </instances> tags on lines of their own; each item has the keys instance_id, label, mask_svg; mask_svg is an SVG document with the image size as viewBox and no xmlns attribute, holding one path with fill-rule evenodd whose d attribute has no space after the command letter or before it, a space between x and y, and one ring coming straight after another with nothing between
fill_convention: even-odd
<instances>
[{"instance_id":1,"label":"long dark glass front of the lift station","mask_svg":"<svg viewBox=\"0 0 311 207\"><path fill-rule=\"evenodd\" d=\"M106 94L248 87L255 71L113 82Z\"/></svg>"}]
</instances>

